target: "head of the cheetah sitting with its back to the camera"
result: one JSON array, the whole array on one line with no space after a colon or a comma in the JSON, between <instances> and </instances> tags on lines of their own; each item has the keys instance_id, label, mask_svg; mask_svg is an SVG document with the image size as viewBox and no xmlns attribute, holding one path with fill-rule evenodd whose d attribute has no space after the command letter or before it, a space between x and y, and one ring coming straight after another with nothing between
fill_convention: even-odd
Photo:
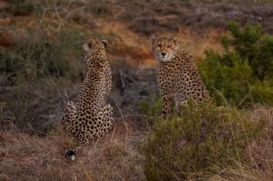
<instances>
[{"instance_id":1,"label":"head of the cheetah sitting with its back to the camera","mask_svg":"<svg viewBox=\"0 0 273 181\"><path fill-rule=\"evenodd\" d=\"M82 56L86 60L99 59L101 56L106 56L106 40L89 39L83 45ZM95 58L93 58L95 57Z\"/></svg>"}]
</instances>

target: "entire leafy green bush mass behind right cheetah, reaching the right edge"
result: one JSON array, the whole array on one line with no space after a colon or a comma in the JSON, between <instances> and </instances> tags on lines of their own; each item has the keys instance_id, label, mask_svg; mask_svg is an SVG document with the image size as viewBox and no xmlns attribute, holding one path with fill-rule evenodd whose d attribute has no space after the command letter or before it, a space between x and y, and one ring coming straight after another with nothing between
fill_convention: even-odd
<instances>
[{"instance_id":1,"label":"entire leafy green bush mass behind right cheetah, reaching the right edge","mask_svg":"<svg viewBox=\"0 0 273 181\"><path fill-rule=\"evenodd\" d=\"M211 95L218 104L221 98L215 89L237 106L272 104L273 37L262 35L259 25L228 27L230 36L222 39L224 53L206 50L205 60L198 64Z\"/></svg>"}]
</instances>

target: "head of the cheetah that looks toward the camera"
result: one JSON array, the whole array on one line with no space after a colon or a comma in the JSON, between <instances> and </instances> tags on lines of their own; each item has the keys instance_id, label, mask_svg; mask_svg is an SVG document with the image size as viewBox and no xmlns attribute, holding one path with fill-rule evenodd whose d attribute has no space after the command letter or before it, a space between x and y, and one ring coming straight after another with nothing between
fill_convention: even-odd
<instances>
[{"instance_id":1,"label":"head of the cheetah that looks toward the camera","mask_svg":"<svg viewBox=\"0 0 273 181\"><path fill-rule=\"evenodd\" d=\"M153 54L160 62L169 62L176 57L177 50L179 48L178 37L168 36L151 36Z\"/></svg>"}]
</instances>

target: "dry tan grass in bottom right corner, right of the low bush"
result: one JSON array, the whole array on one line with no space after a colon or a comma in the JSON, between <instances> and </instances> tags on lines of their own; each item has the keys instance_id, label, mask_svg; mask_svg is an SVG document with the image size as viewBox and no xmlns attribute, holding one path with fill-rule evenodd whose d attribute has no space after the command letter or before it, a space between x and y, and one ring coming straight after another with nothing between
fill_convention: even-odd
<instances>
[{"instance_id":1,"label":"dry tan grass in bottom right corner, right of the low bush","mask_svg":"<svg viewBox=\"0 0 273 181\"><path fill-rule=\"evenodd\" d=\"M258 140L249 143L246 148L246 159L250 160L249 166L242 166L238 163L238 168L216 168L218 174L206 177L209 181L270 181L273 180L273 109L257 107L248 110L250 121L260 118L266 120L262 135Z\"/></svg>"}]
</instances>

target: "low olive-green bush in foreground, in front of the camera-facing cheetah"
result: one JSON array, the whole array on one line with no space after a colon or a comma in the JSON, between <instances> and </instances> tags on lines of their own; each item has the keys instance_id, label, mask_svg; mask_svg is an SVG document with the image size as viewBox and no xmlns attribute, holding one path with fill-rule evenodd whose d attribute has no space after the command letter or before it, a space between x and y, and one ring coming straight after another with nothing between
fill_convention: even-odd
<instances>
[{"instance_id":1,"label":"low olive-green bush in foreground, in front of the camera-facing cheetah","mask_svg":"<svg viewBox=\"0 0 273 181\"><path fill-rule=\"evenodd\" d=\"M250 121L232 107L193 105L183 108L182 117L157 120L143 147L147 180L197 180L217 174L216 167L248 162L244 150L263 121Z\"/></svg>"}]
</instances>

